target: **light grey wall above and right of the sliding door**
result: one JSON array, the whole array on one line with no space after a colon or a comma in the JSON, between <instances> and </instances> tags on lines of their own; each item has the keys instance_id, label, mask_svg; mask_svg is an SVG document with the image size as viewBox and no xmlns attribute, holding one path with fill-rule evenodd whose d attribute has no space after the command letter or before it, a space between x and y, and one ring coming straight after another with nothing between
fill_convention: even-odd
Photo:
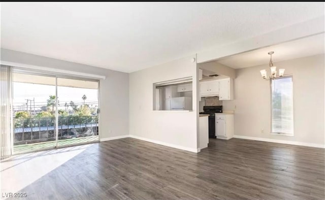
<instances>
[{"instance_id":1,"label":"light grey wall above and right of the sliding door","mask_svg":"<svg viewBox=\"0 0 325 200\"><path fill-rule=\"evenodd\" d=\"M101 139L128 135L128 74L8 49L1 60L106 76L100 80Z\"/></svg>"}]
</instances>

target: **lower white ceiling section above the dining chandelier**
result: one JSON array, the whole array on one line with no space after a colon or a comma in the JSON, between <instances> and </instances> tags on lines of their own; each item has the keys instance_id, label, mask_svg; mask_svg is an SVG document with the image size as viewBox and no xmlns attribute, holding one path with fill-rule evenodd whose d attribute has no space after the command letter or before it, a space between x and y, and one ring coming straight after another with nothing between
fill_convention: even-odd
<instances>
[{"instance_id":1,"label":"lower white ceiling section above the dining chandelier","mask_svg":"<svg viewBox=\"0 0 325 200\"><path fill-rule=\"evenodd\" d=\"M256 49L253 51L226 56L216 61L230 66L234 69L247 68L261 64L268 64L270 55L268 52L274 51L272 55L273 63L281 60L295 59L311 55L324 53L324 34L319 34L295 41L290 41L270 47Z\"/></svg>"}]
</instances>

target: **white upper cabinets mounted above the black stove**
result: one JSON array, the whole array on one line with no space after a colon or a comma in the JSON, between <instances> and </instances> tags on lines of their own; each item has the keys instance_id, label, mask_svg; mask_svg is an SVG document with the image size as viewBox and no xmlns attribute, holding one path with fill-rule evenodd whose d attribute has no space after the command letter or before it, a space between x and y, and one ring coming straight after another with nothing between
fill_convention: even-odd
<instances>
[{"instance_id":1,"label":"white upper cabinets mounted above the black stove","mask_svg":"<svg viewBox=\"0 0 325 200\"><path fill-rule=\"evenodd\" d=\"M234 99L234 81L231 78L200 82L200 96L219 96L219 100Z\"/></svg>"}]
</instances>

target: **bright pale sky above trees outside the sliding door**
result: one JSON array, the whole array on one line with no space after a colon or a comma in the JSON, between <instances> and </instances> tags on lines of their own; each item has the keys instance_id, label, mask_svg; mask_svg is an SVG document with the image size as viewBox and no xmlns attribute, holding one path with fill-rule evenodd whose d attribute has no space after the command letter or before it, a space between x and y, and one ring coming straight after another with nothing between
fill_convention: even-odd
<instances>
[{"instance_id":1,"label":"bright pale sky above trees outside the sliding door","mask_svg":"<svg viewBox=\"0 0 325 200\"><path fill-rule=\"evenodd\" d=\"M35 98L35 109L40 109L41 106L47 105L47 99L49 95L55 95L54 85L42 85L32 83L13 83L13 106L14 110L22 108L23 104L26 104L26 99ZM81 98L84 94L87 96L85 103L92 106L98 106L98 89L85 89L76 87L57 87L57 96L59 100L58 109L65 110L64 104L73 101L75 104L83 104ZM31 102L32 110L34 110L34 102ZM28 101L28 110L30 109L30 102ZM22 109L21 109L22 110ZM26 110L26 105L25 105Z\"/></svg>"}]
</instances>

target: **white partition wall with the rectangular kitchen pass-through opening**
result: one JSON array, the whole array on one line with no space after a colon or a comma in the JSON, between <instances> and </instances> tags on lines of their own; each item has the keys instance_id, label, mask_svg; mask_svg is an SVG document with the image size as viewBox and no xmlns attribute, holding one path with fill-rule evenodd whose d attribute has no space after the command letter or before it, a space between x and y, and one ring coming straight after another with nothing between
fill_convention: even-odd
<instances>
[{"instance_id":1,"label":"white partition wall with the rectangular kitchen pass-through opening","mask_svg":"<svg viewBox=\"0 0 325 200\"><path fill-rule=\"evenodd\" d=\"M129 74L129 133L135 138L196 152L198 148L198 68L191 58ZM193 77L193 111L152 111L153 83Z\"/></svg>"}]
</instances>

